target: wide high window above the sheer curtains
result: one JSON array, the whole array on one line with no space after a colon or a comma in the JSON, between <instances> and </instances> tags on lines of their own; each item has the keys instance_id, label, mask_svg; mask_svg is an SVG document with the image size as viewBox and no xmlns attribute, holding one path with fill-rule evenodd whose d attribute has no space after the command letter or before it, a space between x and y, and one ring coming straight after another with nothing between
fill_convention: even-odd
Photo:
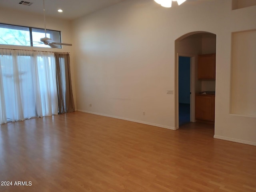
<instances>
[{"instance_id":1,"label":"wide high window above the sheer curtains","mask_svg":"<svg viewBox=\"0 0 256 192\"><path fill-rule=\"evenodd\" d=\"M45 37L44 29L0 23L0 44L49 48L50 46L40 41L43 37ZM46 30L46 37L51 38L53 42L61 42L60 31ZM61 45L57 48L61 48Z\"/></svg>"}]
</instances>

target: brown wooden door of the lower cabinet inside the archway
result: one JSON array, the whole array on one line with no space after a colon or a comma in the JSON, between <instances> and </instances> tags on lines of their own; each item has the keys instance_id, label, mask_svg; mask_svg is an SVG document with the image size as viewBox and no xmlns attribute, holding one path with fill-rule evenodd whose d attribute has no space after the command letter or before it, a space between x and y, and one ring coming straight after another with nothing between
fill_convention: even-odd
<instances>
[{"instance_id":1,"label":"brown wooden door of the lower cabinet inside the archway","mask_svg":"<svg viewBox=\"0 0 256 192\"><path fill-rule=\"evenodd\" d=\"M212 121L212 96L196 96L196 119Z\"/></svg>"}]
</instances>

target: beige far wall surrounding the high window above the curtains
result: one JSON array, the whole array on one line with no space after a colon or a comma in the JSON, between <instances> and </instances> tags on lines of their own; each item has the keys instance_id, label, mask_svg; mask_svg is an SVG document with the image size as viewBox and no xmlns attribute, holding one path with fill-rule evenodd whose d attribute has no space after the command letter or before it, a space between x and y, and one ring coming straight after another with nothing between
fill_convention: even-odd
<instances>
[{"instance_id":1,"label":"beige far wall surrounding the high window above the curtains","mask_svg":"<svg viewBox=\"0 0 256 192\"><path fill-rule=\"evenodd\" d=\"M44 28L44 17L40 14L31 14L26 12L19 12L17 10L10 10L0 7L0 23L12 24L19 26L28 26L34 28ZM72 29L71 22L68 20L56 19L46 17L46 28L50 30L61 31L62 42L72 43ZM40 47L30 47L30 46L10 46L1 45L0 48L14 48L14 49L24 49L24 50L38 50L38 51L51 51L51 52L70 52L70 72L72 80L72 89L74 102L76 105L76 89L75 89L75 79L74 79L74 62L73 62L73 47L63 46L62 49L53 48L40 48Z\"/></svg>"}]
</instances>

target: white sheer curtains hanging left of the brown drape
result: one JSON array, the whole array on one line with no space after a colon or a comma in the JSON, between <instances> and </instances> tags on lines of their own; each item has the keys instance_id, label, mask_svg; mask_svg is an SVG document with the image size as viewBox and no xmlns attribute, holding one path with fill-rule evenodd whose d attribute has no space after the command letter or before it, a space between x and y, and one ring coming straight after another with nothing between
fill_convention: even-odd
<instances>
[{"instance_id":1,"label":"white sheer curtains hanging left of the brown drape","mask_svg":"<svg viewBox=\"0 0 256 192\"><path fill-rule=\"evenodd\" d=\"M0 49L0 124L58 114L54 53Z\"/></svg>"}]
</instances>

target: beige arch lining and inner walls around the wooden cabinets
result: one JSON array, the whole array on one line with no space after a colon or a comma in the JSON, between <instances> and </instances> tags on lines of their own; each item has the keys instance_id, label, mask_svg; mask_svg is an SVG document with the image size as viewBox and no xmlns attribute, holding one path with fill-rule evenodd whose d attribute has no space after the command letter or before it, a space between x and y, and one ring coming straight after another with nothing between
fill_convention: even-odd
<instances>
[{"instance_id":1,"label":"beige arch lining and inner walls around the wooden cabinets","mask_svg":"<svg viewBox=\"0 0 256 192\"><path fill-rule=\"evenodd\" d=\"M195 122L195 95L199 92L207 89L215 91L214 81L202 81L197 78L198 67L198 55L202 54L216 54L216 34L204 31L190 32L184 34L175 40L175 127L180 126L180 117L182 109L180 109L181 103L179 98L181 92L179 88L179 82L181 80L181 73L179 75L179 58L190 58L190 104L189 104L189 122ZM184 74L185 76L185 74ZM187 115L187 114L186 114ZM183 122L182 122L183 123Z\"/></svg>"}]
</instances>

